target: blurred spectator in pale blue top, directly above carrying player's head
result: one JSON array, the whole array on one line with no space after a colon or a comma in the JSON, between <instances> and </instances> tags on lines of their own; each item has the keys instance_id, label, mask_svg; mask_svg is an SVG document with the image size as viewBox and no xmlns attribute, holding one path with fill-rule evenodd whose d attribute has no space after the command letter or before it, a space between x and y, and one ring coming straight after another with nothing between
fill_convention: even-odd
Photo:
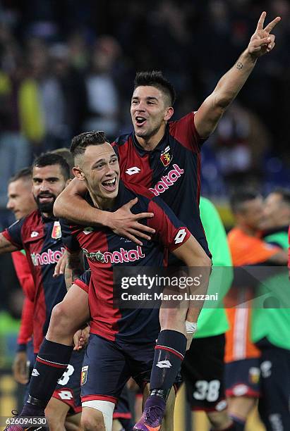
<instances>
[{"instance_id":1,"label":"blurred spectator in pale blue top, directly above carrying player's head","mask_svg":"<svg viewBox=\"0 0 290 431\"><path fill-rule=\"evenodd\" d=\"M101 36L92 49L92 62L85 80L88 116L84 130L106 130L109 140L119 131L119 91L113 68L121 55L121 47L111 36Z\"/></svg>"}]
</instances>

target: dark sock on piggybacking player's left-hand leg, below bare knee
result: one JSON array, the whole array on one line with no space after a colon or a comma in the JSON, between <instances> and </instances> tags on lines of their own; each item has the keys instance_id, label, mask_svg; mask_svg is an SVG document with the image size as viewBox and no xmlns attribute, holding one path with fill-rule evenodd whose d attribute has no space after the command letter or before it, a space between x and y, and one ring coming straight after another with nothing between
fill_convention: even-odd
<instances>
[{"instance_id":1,"label":"dark sock on piggybacking player's left-hand leg, below bare knee","mask_svg":"<svg viewBox=\"0 0 290 431\"><path fill-rule=\"evenodd\" d=\"M32 371L29 397L22 415L43 414L44 408L51 399L57 381L64 374L73 351L72 346L65 346L44 338Z\"/></svg>"}]
</instances>

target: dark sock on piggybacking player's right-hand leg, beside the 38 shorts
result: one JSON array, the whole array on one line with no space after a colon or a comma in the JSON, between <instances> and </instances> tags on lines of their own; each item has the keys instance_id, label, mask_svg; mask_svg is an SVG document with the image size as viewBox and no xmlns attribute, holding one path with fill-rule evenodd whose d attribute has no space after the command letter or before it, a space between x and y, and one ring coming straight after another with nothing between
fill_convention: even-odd
<instances>
[{"instance_id":1,"label":"dark sock on piggybacking player's right-hand leg, beside the 38 shorts","mask_svg":"<svg viewBox=\"0 0 290 431\"><path fill-rule=\"evenodd\" d=\"M159 333L150 377L150 394L167 399L185 353L185 335L174 330L163 330Z\"/></svg>"}]
</instances>

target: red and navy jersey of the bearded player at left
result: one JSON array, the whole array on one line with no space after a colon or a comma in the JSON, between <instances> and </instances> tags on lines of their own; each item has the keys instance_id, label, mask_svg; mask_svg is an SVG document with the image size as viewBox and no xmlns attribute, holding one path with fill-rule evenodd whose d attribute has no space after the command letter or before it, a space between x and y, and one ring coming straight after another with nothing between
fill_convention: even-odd
<instances>
[{"instance_id":1,"label":"red and navy jersey of the bearded player at left","mask_svg":"<svg viewBox=\"0 0 290 431\"><path fill-rule=\"evenodd\" d=\"M64 277L53 277L56 262L64 254L59 221L44 218L33 211L8 227L2 235L18 249L25 249L35 282L35 308L33 314L33 342L35 352L47 333L52 308L64 299Z\"/></svg>"}]
</instances>

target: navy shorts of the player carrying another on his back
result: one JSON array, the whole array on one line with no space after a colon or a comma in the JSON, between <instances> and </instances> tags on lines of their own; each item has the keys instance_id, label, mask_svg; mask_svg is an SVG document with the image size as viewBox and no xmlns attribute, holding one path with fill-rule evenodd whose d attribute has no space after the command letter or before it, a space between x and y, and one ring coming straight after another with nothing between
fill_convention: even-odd
<instances>
[{"instance_id":1,"label":"navy shorts of the player carrying another on his back","mask_svg":"<svg viewBox=\"0 0 290 431\"><path fill-rule=\"evenodd\" d=\"M143 388L150 381L155 342L109 341L91 334L83 360L82 401L118 401L130 377Z\"/></svg>"}]
</instances>

